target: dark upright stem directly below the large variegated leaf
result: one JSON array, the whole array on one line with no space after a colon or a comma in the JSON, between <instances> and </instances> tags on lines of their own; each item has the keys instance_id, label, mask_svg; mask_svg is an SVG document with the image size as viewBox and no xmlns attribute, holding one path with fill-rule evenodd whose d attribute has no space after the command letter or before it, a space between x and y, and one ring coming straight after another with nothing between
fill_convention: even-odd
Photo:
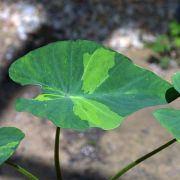
<instances>
[{"instance_id":1,"label":"dark upright stem directly below the large variegated leaf","mask_svg":"<svg viewBox=\"0 0 180 180\"><path fill-rule=\"evenodd\" d=\"M55 146L54 146L54 164L56 169L57 180L62 180L61 167L59 161L59 136L60 136L60 127L56 127L56 137L55 137Z\"/></svg>"}]
</instances>

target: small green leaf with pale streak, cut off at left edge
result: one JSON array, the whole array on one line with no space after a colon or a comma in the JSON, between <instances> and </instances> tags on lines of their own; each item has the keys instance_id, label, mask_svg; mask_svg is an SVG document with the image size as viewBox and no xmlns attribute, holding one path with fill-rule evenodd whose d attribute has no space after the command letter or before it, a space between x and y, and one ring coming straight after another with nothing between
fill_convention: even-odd
<instances>
[{"instance_id":1,"label":"small green leaf with pale streak, cut off at left edge","mask_svg":"<svg viewBox=\"0 0 180 180\"><path fill-rule=\"evenodd\" d=\"M17 128L0 128L0 165L15 152L23 138L24 133Z\"/></svg>"}]
</instances>

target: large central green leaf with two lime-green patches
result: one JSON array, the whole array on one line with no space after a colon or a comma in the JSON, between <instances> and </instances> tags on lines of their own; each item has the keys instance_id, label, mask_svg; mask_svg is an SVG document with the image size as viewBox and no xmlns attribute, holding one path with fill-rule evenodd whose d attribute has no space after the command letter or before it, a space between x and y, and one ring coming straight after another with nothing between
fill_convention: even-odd
<instances>
[{"instance_id":1,"label":"large central green leaf with two lime-green patches","mask_svg":"<svg viewBox=\"0 0 180 180\"><path fill-rule=\"evenodd\" d=\"M167 103L171 84L127 57L92 41L62 41L14 62L10 77L39 85L42 94L17 101L17 111L48 118L56 126L113 129L131 113Z\"/></svg>"}]
</instances>

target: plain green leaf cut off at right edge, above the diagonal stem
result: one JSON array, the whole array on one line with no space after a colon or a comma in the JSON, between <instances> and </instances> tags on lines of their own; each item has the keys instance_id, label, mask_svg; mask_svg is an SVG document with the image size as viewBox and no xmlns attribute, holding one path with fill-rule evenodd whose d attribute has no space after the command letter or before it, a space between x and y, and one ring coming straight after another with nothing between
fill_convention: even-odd
<instances>
[{"instance_id":1,"label":"plain green leaf cut off at right edge, above the diagonal stem","mask_svg":"<svg viewBox=\"0 0 180 180\"><path fill-rule=\"evenodd\" d=\"M162 108L153 114L158 122L180 142L180 110Z\"/></svg>"}]
</instances>

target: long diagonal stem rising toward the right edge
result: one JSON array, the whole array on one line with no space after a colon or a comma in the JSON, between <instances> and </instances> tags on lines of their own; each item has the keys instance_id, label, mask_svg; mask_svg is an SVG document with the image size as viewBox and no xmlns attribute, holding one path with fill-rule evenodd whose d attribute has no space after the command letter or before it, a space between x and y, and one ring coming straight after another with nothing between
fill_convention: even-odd
<instances>
[{"instance_id":1,"label":"long diagonal stem rising toward the right edge","mask_svg":"<svg viewBox=\"0 0 180 180\"><path fill-rule=\"evenodd\" d=\"M171 144L175 143L176 139L172 139L171 141L167 142L166 144L160 146L159 148L151 151L150 153L142 156L141 158L137 159L136 161L133 161L132 163L128 164L127 166L125 166L123 169L121 169L120 171L118 171L118 173L116 173L113 177L110 178L110 180L116 180L118 179L120 176L122 176L123 174L125 174L127 171L129 171L130 169L132 169L134 166L138 165L139 163L145 161L146 159L150 158L151 156L155 155L156 153L158 153L159 151L167 148L168 146L170 146Z\"/></svg>"}]
</instances>

